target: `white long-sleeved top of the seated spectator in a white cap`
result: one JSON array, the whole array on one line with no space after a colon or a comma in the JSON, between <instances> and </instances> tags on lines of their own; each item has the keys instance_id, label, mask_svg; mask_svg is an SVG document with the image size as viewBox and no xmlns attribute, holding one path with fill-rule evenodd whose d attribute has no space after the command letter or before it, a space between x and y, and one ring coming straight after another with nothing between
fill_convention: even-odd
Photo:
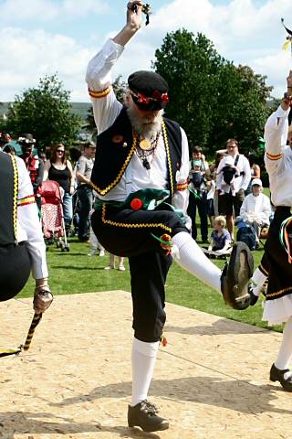
<instances>
[{"instance_id":1,"label":"white long-sleeved top of the seated spectator in a white cap","mask_svg":"<svg viewBox=\"0 0 292 439\"><path fill-rule=\"evenodd\" d=\"M259 194L256 197L253 194L247 195L240 208L240 216L244 221L256 220L266 225L270 223L271 212L271 203L265 194Z\"/></svg>"}]
</instances>

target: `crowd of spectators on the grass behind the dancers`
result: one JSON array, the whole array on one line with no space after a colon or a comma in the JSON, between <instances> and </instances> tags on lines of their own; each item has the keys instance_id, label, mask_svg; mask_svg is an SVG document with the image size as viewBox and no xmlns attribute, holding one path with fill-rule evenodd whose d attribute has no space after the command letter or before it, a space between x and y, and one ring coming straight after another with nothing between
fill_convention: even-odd
<instances>
[{"instance_id":1,"label":"crowd of spectators on the grass behind the dancers","mask_svg":"<svg viewBox=\"0 0 292 439\"><path fill-rule=\"evenodd\" d=\"M57 181L62 192L67 233L70 233L74 223L78 241L90 243L89 255L103 256L105 251L90 228L90 215L95 198L90 185L90 176L96 145L90 141L84 142L82 148L71 147L67 151L65 145L58 143L47 146L43 152L37 150L36 139L32 134L19 137L17 144L21 146L21 157L26 163L34 187L39 211L42 182L47 179ZM16 154L10 134L0 133L0 149L7 154ZM237 224L242 220L255 230L257 248L261 230L269 226L273 215L270 200L262 193L263 185L260 177L261 170L255 163L255 157L241 154L235 139L228 139L226 148L215 152L214 161L210 166L203 149L198 145L194 146L190 157L187 210L192 221L193 239L199 239L196 223L198 216L201 241L209 243L208 250L214 250L218 239L221 238L222 241L226 236L228 247L230 242L235 241L236 219ZM210 236L208 236L209 221L214 229ZM225 250L225 244L221 249L216 250L222 252L222 249ZM106 268L114 266L114 255L110 255L110 264ZM122 260L118 266L122 271L124 267Z\"/></svg>"}]
</instances>

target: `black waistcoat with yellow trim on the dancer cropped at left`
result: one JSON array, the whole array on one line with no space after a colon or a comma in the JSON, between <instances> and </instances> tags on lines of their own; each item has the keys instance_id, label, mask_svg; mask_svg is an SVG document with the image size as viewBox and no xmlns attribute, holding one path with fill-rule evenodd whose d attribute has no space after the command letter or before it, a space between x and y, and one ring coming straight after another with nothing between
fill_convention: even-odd
<instances>
[{"instance_id":1,"label":"black waistcoat with yellow trim on the dancer cropped at left","mask_svg":"<svg viewBox=\"0 0 292 439\"><path fill-rule=\"evenodd\" d=\"M18 173L16 160L0 152L0 245L16 242Z\"/></svg>"}]
</instances>

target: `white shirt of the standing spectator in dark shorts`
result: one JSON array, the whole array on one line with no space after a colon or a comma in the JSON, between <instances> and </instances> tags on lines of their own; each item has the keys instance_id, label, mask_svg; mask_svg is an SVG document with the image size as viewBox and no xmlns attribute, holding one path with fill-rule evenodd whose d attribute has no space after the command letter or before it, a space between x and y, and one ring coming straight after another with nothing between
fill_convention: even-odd
<instances>
[{"instance_id":1,"label":"white shirt of the standing spectator in dark shorts","mask_svg":"<svg viewBox=\"0 0 292 439\"><path fill-rule=\"evenodd\" d=\"M227 185L224 182L223 168L225 166L226 160L230 161L230 157L232 157L232 156L226 155L220 161L219 166L217 168L216 189L221 191L221 195L223 195L224 193L228 194L230 192L230 190L234 193L234 195L235 195L235 193L238 192L239 189L246 190L248 185L249 185L250 179L251 179L249 162L248 162L247 158L245 157L245 155L240 154L236 167L238 168L239 172L243 172L244 174L240 175L238 177L234 177L232 180L232 186ZM232 158L234 159L234 164L235 164L236 155Z\"/></svg>"}]
</instances>

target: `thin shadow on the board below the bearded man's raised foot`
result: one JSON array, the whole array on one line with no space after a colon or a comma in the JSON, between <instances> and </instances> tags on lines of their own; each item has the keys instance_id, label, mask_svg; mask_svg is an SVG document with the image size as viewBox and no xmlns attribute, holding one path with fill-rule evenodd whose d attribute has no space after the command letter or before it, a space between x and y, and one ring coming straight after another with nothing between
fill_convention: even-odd
<instances>
[{"instance_id":1,"label":"thin shadow on the board below the bearded man's raised foot","mask_svg":"<svg viewBox=\"0 0 292 439\"><path fill-rule=\"evenodd\" d=\"M218 336L223 334L269 334L269 331L264 328L253 327L249 324L234 322L231 324L229 319L221 318L212 325L197 326L197 327L172 327L165 325L165 332L176 332L178 334L189 334L197 336Z\"/></svg>"}]
</instances>

